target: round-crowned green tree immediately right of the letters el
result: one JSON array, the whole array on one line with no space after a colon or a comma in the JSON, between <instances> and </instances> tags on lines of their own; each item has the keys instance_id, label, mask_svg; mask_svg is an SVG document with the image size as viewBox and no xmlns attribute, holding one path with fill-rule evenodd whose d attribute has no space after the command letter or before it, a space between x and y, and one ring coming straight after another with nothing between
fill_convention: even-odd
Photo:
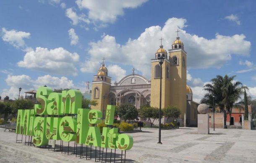
<instances>
[{"instance_id":1,"label":"round-crowned green tree immediately right of the letters el","mask_svg":"<svg viewBox=\"0 0 256 163\"><path fill-rule=\"evenodd\" d=\"M126 120L138 120L138 110L131 103L125 103L120 105L118 116Z\"/></svg>"}]
</instances>

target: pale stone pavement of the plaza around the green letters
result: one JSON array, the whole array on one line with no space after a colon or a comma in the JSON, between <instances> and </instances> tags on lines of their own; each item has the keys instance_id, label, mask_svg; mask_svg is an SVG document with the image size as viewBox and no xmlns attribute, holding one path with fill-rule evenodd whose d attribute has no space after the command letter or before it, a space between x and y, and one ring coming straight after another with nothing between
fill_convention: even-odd
<instances>
[{"instance_id":1,"label":"pale stone pavement of the plaza around the green letters","mask_svg":"<svg viewBox=\"0 0 256 163\"><path fill-rule=\"evenodd\" d=\"M162 145L157 144L158 129L142 130L128 133L133 136L134 144L133 148L126 152L126 163L256 162L256 130L210 129L209 135L200 135L197 134L197 128L180 127L162 130ZM3 132L0 128L0 162L94 162L95 159L94 156L92 160L86 160L76 155L67 155L67 149L65 153L59 150L53 152L15 141L15 133ZM73 142L70 145L73 146ZM72 149L71 147L70 150ZM9 155L11 160L8 160L6 155ZM24 158L21 159L19 155L24 155ZM119 150L116 156L115 161L120 162ZM107 162L110 162L110 153Z\"/></svg>"}]
</instances>

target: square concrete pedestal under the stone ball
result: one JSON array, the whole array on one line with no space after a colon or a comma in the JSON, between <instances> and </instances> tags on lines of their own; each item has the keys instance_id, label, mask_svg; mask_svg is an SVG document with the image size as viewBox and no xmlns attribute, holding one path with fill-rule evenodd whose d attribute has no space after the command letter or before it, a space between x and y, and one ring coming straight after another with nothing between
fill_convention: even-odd
<instances>
[{"instance_id":1,"label":"square concrete pedestal under the stone ball","mask_svg":"<svg viewBox=\"0 0 256 163\"><path fill-rule=\"evenodd\" d=\"M197 114L197 132L199 134L209 134L209 115Z\"/></svg>"}]
</instances>

